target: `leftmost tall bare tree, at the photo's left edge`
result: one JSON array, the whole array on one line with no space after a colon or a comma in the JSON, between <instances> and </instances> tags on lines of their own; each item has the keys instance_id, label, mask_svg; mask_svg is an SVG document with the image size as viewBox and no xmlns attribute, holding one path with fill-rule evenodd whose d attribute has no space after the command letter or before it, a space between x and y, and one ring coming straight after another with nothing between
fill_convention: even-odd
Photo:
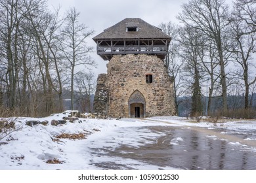
<instances>
[{"instance_id":1,"label":"leftmost tall bare tree, at the photo's left edge","mask_svg":"<svg viewBox=\"0 0 256 183\"><path fill-rule=\"evenodd\" d=\"M18 34L19 27L24 14L21 12L22 2L14 0L0 1L0 39L5 42L3 46L3 55L7 75L5 78L7 86L8 106L14 108L16 105L16 93L18 86L18 72L20 63L18 61Z\"/></svg>"}]
</instances>

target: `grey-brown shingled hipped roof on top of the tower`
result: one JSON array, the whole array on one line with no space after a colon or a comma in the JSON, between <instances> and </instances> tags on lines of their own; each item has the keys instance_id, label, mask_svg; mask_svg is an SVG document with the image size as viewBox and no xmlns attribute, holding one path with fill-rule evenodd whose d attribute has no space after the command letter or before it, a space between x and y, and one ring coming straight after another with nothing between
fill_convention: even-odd
<instances>
[{"instance_id":1,"label":"grey-brown shingled hipped roof on top of the tower","mask_svg":"<svg viewBox=\"0 0 256 183\"><path fill-rule=\"evenodd\" d=\"M138 27L138 31L127 31L126 27ZM170 39L154 25L150 25L140 18L125 18L121 22L105 29L99 35L93 38L96 42L100 39Z\"/></svg>"}]
</instances>

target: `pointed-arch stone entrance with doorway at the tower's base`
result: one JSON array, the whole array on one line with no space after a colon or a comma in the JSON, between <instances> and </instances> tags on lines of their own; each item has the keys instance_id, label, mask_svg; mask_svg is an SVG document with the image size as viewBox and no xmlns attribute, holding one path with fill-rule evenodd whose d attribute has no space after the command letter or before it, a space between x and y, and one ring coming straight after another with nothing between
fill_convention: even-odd
<instances>
[{"instance_id":1,"label":"pointed-arch stone entrance with doorway at the tower's base","mask_svg":"<svg viewBox=\"0 0 256 183\"><path fill-rule=\"evenodd\" d=\"M138 90L133 92L128 101L129 118L145 118L146 117L146 101L142 93Z\"/></svg>"}]
</instances>

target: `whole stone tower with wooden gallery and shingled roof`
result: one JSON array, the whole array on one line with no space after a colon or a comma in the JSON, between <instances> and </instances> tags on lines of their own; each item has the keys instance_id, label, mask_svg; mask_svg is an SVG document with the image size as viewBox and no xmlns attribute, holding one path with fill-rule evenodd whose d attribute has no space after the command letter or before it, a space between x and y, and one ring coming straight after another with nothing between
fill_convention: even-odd
<instances>
[{"instance_id":1,"label":"whole stone tower with wooden gallery and shingled roof","mask_svg":"<svg viewBox=\"0 0 256 183\"><path fill-rule=\"evenodd\" d=\"M171 37L140 18L126 18L93 40L109 61L107 74L98 76L95 112L114 118L175 114L173 81L163 62Z\"/></svg>"}]
</instances>

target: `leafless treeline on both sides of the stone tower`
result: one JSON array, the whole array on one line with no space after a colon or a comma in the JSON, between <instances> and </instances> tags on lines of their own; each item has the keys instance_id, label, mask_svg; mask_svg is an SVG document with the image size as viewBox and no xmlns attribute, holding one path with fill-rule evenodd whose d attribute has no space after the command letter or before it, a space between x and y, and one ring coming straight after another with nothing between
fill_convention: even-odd
<instances>
[{"instance_id":1,"label":"leafless treeline on both sides of the stone tower","mask_svg":"<svg viewBox=\"0 0 256 183\"><path fill-rule=\"evenodd\" d=\"M190 96L190 116L228 116L230 96L244 97L238 108L255 106L255 6L255 0L190 0L177 16L181 24L160 25L172 37L165 65L178 113L187 101L181 96ZM79 22L79 12L60 15L47 0L0 0L0 15L0 109L46 116L64 110L65 101L90 112L89 69L96 65L86 41L93 30Z\"/></svg>"}]
</instances>

